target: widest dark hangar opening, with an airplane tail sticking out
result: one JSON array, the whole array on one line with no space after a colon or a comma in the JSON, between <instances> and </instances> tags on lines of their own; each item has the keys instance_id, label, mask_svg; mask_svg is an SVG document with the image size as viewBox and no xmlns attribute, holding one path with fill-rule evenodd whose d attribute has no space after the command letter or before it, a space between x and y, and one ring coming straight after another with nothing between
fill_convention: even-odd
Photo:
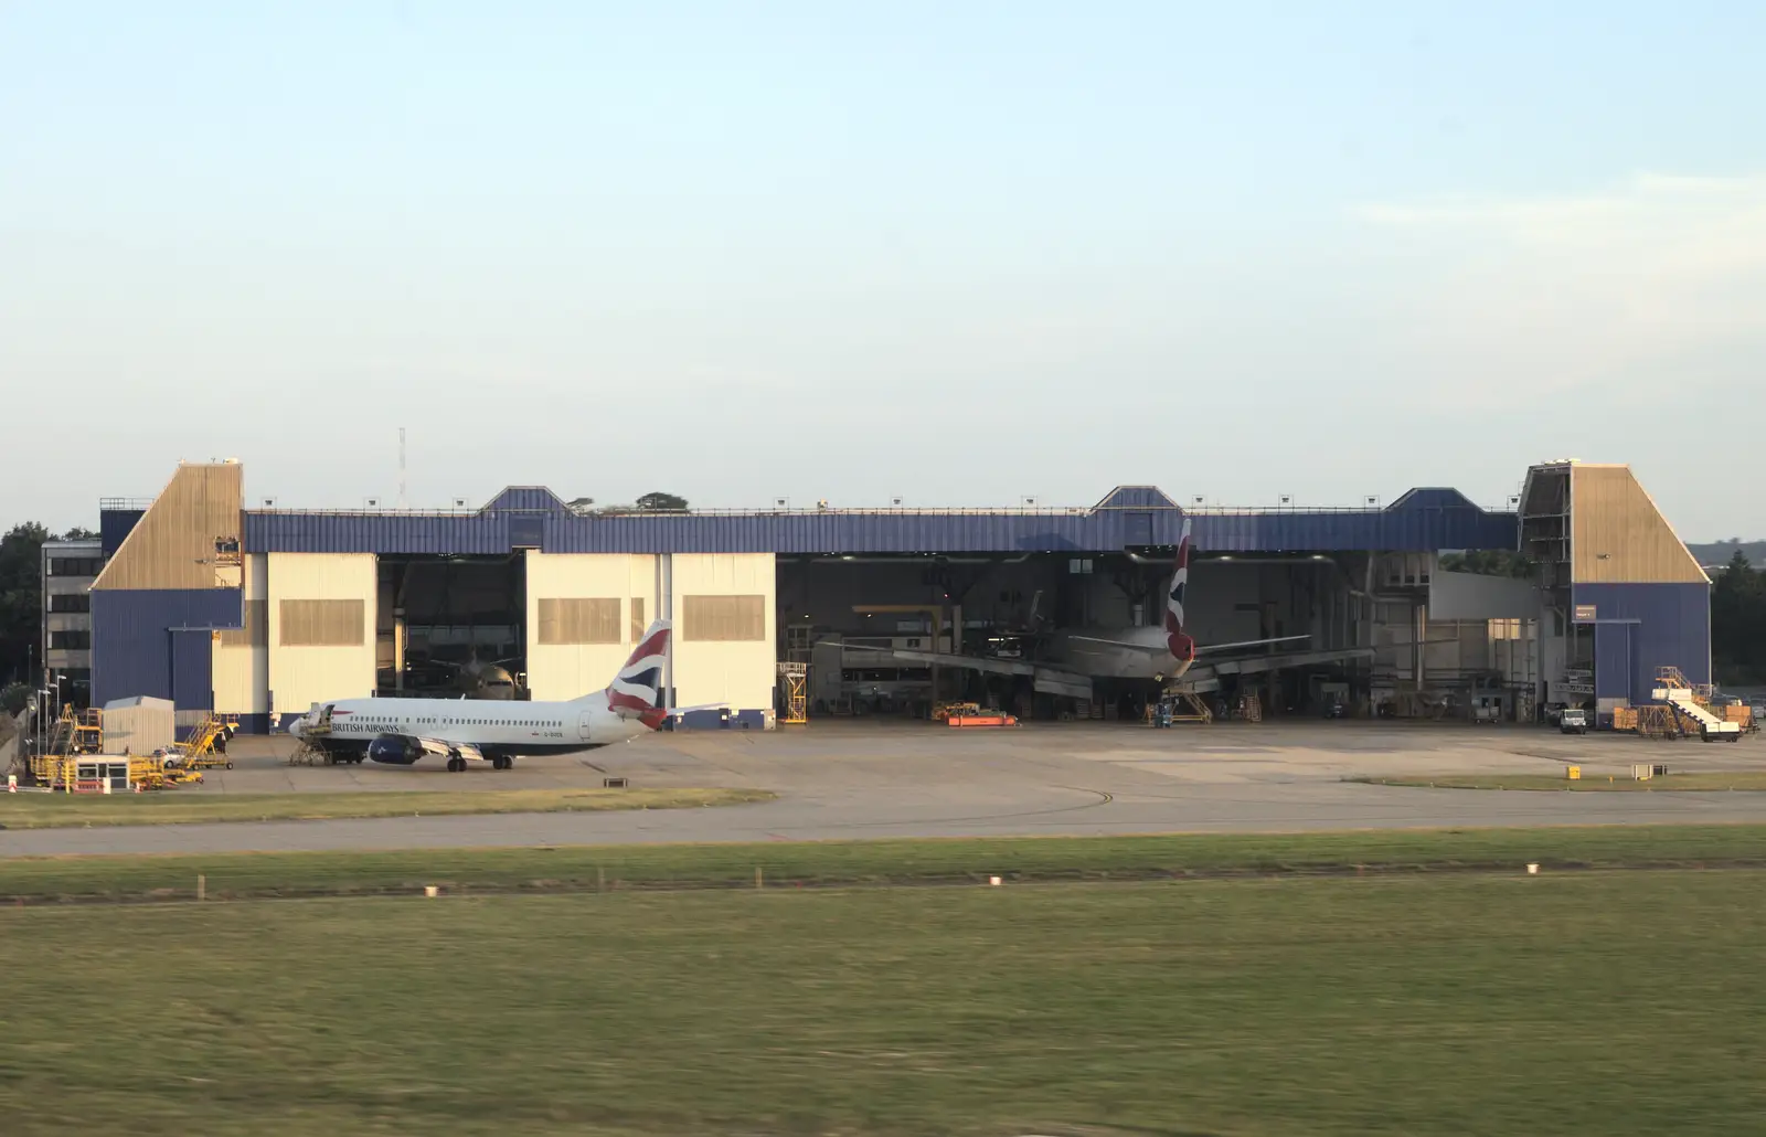
<instances>
[{"instance_id":1,"label":"widest dark hangar opening, with an airplane tail sticking out","mask_svg":"<svg viewBox=\"0 0 1766 1137\"><path fill-rule=\"evenodd\" d=\"M1367 692L1372 651L1337 558L1192 553L1183 627L1197 657L1181 676L1166 627L1174 565L1174 546L781 556L781 662L807 664L811 717L975 703L1132 719L1173 685L1241 715Z\"/></svg>"}]
</instances>

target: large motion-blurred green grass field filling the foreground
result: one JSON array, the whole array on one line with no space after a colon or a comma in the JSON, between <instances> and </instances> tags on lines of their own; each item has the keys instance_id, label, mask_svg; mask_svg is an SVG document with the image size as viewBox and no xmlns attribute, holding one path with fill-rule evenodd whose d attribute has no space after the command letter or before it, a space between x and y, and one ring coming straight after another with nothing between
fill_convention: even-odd
<instances>
[{"instance_id":1,"label":"large motion-blurred green grass field filling the foreground","mask_svg":"<svg viewBox=\"0 0 1766 1137\"><path fill-rule=\"evenodd\" d=\"M9 1137L1745 1133L1766 872L0 909Z\"/></svg>"}]
</instances>

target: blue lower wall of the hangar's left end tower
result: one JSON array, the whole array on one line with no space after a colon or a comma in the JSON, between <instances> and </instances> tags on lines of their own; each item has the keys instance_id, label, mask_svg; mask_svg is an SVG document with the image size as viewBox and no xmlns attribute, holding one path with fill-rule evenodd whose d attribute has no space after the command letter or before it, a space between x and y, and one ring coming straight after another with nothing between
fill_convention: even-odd
<instances>
[{"instance_id":1,"label":"blue lower wall of the hangar's left end tower","mask_svg":"<svg viewBox=\"0 0 1766 1137\"><path fill-rule=\"evenodd\" d=\"M94 590L94 704L154 696L178 710L207 710L214 659L207 629L238 629L242 613L237 588Z\"/></svg>"}]
</instances>

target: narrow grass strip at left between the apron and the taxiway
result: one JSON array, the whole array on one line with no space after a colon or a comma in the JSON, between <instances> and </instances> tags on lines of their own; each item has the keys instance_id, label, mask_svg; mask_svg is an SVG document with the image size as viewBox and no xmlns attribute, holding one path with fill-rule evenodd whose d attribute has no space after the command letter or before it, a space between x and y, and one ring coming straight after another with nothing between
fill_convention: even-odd
<instances>
[{"instance_id":1,"label":"narrow grass strip at left between the apron and the taxiway","mask_svg":"<svg viewBox=\"0 0 1766 1137\"><path fill-rule=\"evenodd\" d=\"M480 789L434 793L258 793L191 789L127 794L0 794L0 826L12 830L95 825L191 825L223 821L327 821L445 814L556 814L609 809L692 809L770 802L761 789Z\"/></svg>"}]
</instances>

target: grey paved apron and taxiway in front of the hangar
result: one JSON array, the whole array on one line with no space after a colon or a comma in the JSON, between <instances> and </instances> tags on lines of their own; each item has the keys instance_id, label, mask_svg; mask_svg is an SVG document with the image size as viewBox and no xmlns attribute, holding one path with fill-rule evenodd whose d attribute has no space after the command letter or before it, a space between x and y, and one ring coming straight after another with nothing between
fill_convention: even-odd
<instances>
[{"instance_id":1,"label":"grey paved apron and taxiway in front of the hangar","mask_svg":"<svg viewBox=\"0 0 1766 1137\"><path fill-rule=\"evenodd\" d=\"M777 802L726 809L267 825L129 826L0 833L0 856L254 849L494 847L683 840L1296 832L1408 826L1766 823L1766 793L1491 793L1342 782L1346 773L1623 772L1634 740L1559 740L1358 726L1217 727L1206 736L1130 727L1049 727L945 736L927 729L680 736L533 763L510 775L295 768L240 757L207 793L263 789L417 791L599 784L763 786ZM1676 768L1766 766L1766 747L1683 745ZM494 779L494 780L493 780ZM288 782L288 784L284 784ZM413 812L422 793L410 793Z\"/></svg>"}]
</instances>

